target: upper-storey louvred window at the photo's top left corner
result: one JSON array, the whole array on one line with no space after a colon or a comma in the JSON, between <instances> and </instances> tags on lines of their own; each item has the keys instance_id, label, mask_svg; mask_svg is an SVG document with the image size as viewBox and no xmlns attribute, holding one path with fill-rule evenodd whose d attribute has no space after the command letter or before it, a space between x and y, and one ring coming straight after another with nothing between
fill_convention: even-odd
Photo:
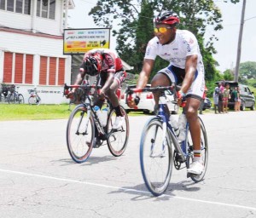
<instances>
[{"instance_id":1,"label":"upper-storey louvred window at the photo's top left corner","mask_svg":"<svg viewBox=\"0 0 256 218\"><path fill-rule=\"evenodd\" d=\"M31 0L0 0L0 9L20 14L31 14Z\"/></svg>"}]
</instances>

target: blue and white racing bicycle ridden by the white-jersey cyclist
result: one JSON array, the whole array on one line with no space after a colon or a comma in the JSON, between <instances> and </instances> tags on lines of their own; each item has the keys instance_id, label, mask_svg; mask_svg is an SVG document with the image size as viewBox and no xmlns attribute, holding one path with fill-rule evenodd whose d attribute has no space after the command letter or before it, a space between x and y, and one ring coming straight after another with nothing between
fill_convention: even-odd
<instances>
[{"instance_id":1,"label":"blue and white racing bicycle ridden by the white-jersey cyclist","mask_svg":"<svg viewBox=\"0 0 256 218\"><path fill-rule=\"evenodd\" d=\"M148 122L144 125L140 141L140 164L143 180L148 190L154 196L159 196L166 191L172 176L172 165L177 170L189 169L189 164L192 163L194 156L189 123L186 123L185 139L179 141L173 124L169 121L170 114L167 110L165 90L172 91L177 99L175 85L144 89L130 89L128 87L126 89L126 93L130 96L133 93L139 92L160 92L157 115L149 118ZM199 118L199 121L201 125L201 158L205 169L201 175L187 173L187 177L190 177L195 182L203 180L208 162L207 132L201 118Z\"/></svg>"}]
</instances>

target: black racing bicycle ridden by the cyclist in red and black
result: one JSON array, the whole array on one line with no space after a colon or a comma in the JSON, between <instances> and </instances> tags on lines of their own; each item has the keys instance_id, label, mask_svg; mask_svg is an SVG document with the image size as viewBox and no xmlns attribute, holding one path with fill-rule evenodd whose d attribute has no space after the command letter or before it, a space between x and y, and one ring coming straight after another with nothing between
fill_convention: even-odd
<instances>
[{"instance_id":1,"label":"black racing bicycle ridden by the cyclist in red and black","mask_svg":"<svg viewBox=\"0 0 256 218\"><path fill-rule=\"evenodd\" d=\"M73 109L67 122L67 149L73 161L85 162L90 157L92 149L105 145L106 141L112 155L121 156L125 152L129 138L129 121L125 109L121 106L121 112L125 117L123 125L119 129L112 129L116 113L111 103L107 101L108 120L106 126L102 126L93 104L93 98L101 86L86 83L65 84L64 94L68 89L73 88L84 90L84 102Z\"/></svg>"}]
</instances>

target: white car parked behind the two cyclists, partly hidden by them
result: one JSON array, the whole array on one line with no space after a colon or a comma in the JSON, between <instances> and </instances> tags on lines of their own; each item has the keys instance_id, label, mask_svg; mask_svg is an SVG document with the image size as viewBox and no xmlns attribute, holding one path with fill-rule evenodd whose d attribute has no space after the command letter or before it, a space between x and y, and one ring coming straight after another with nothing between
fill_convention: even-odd
<instances>
[{"instance_id":1,"label":"white car parked behind the two cyclists, partly hidden by them","mask_svg":"<svg viewBox=\"0 0 256 218\"><path fill-rule=\"evenodd\" d=\"M148 84L146 87L149 88L151 85ZM136 88L136 85L130 85L131 88ZM177 114L179 110L179 106L177 104L173 103L173 95L171 91L166 90L166 102L167 106L169 108L169 111L172 112L173 114ZM131 112L131 111L143 111L144 113L151 113L154 114L154 97L152 92L144 92L141 93L140 95L140 102L137 105L137 109L132 109L129 106L126 105L125 103L126 99L126 94L125 91L121 94L120 97L120 105L125 108L125 111Z\"/></svg>"}]
</instances>

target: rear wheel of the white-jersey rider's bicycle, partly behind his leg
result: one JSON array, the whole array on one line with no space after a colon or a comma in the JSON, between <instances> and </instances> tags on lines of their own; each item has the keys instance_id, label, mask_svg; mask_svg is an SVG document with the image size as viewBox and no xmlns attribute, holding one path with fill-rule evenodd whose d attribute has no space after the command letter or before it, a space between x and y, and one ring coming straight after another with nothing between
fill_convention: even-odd
<instances>
[{"instance_id":1,"label":"rear wheel of the white-jersey rider's bicycle, partly behind his leg","mask_svg":"<svg viewBox=\"0 0 256 218\"><path fill-rule=\"evenodd\" d=\"M203 164L204 164L204 170L201 173L201 175L190 175L191 180L195 181L195 182L199 182L202 181L204 179L204 176L206 175L207 172L207 164L208 164L208 141L207 141L207 131L205 128L204 123L202 122L201 118L199 118L200 121L200 125L201 125L201 158L203 160ZM189 128L187 126L187 128ZM188 131L188 136L186 139L186 145L188 147L188 149L191 149L191 147L189 148L189 146L193 145L192 143L192 139L191 139L191 135L189 132L189 129L187 129ZM192 158L189 158L187 161L187 167L189 167L189 162L192 160Z\"/></svg>"}]
</instances>

